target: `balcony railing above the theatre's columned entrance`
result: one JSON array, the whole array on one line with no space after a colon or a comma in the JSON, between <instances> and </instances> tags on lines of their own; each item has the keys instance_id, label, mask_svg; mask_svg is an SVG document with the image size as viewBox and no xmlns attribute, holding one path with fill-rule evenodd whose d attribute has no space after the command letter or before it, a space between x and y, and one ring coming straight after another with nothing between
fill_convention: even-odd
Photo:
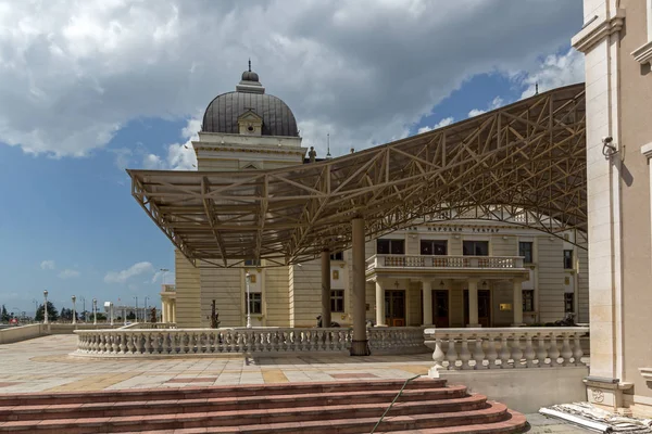
<instances>
[{"instance_id":1,"label":"balcony railing above the theatre's columned entrance","mask_svg":"<svg viewBox=\"0 0 652 434\"><path fill-rule=\"evenodd\" d=\"M522 269L523 256L374 255L367 271L376 268Z\"/></svg>"}]
</instances>

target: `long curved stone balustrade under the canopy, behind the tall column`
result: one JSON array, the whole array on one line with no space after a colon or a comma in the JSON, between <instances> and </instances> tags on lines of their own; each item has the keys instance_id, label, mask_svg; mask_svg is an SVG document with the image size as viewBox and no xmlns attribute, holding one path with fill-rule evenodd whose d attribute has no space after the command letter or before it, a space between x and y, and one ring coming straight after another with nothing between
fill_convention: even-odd
<instances>
[{"instance_id":1,"label":"long curved stone balustrade under the canopy, behind the tall column","mask_svg":"<svg viewBox=\"0 0 652 434\"><path fill-rule=\"evenodd\" d=\"M148 329L77 331L77 355L86 356L188 356L216 354L346 353L352 330L330 329ZM374 354L426 352L422 327L371 328Z\"/></svg>"}]
</instances>

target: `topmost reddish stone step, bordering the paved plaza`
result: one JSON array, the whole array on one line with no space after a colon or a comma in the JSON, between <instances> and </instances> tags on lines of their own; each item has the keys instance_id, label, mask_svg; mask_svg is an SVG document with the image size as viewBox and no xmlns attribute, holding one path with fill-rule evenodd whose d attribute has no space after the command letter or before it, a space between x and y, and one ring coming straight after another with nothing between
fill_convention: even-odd
<instances>
[{"instance_id":1,"label":"topmost reddish stone step, bordering the paved plaza","mask_svg":"<svg viewBox=\"0 0 652 434\"><path fill-rule=\"evenodd\" d=\"M80 393L39 393L39 394L3 394L0 395L0 407L33 406L46 404L76 404L97 401L129 401L129 400L171 400L171 399L201 399L214 397L241 397L264 395L310 395L318 393L338 393L355 391L384 391L396 390L403 386L404 380L368 380L325 383L281 383L281 384L251 384L233 386L209 387L179 387L179 388L140 388L121 391L98 391ZM446 380L428 378L417 379L408 384L405 390L422 390L444 387Z\"/></svg>"}]
</instances>

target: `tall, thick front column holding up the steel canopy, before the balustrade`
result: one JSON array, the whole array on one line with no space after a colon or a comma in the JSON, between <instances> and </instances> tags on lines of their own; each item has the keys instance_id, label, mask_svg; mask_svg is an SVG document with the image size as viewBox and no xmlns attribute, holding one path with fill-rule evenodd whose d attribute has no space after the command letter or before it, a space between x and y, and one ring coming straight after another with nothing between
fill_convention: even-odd
<instances>
[{"instance_id":1,"label":"tall, thick front column holding up the steel canopy, before the balustrade","mask_svg":"<svg viewBox=\"0 0 652 434\"><path fill-rule=\"evenodd\" d=\"M364 219L354 218L352 225L353 253L353 342L351 356L368 356L366 337L366 279L364 260Z\"/></svg>"}]
</instances>

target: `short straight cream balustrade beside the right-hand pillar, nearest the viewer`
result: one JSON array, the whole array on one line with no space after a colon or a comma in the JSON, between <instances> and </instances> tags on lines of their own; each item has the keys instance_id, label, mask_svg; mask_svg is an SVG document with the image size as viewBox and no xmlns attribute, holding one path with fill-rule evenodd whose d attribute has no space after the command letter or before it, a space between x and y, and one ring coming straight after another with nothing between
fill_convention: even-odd
<instances>
[{"instance_id":1,"label":"short straight cream balustrade beside the right-hand pillar, nearest the viewer","mask_svg":"<svg viewBox=\"0 0 652 434\"><path fill-rule=\"evenodd\" d=\"M430 371L585 366L588 327L426 329L435 341Z\"/></svg>"}]
</instances>

